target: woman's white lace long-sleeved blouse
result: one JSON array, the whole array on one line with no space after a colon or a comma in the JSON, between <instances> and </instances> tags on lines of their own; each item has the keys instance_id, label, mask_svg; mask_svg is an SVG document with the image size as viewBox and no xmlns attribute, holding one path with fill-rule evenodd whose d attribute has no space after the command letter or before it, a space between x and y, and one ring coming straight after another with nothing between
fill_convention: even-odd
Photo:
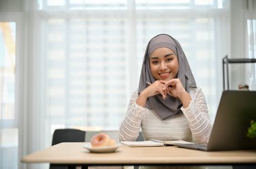
<instances>
[{"instance_id":1,"label":"woman's white lace long-sleeved blouse","mask_svg":"<svg viewBox=\"0 0 256 169\"><path fill-rule=\"evenodd\" d=\"M152 109L137 105L138 93L131 96L129 107L119 128L120 141L135 141L141 129L144 139L176 140L207 143L212 131L207 104L199 87L190 88L189 107L181 108L183 113L160 119Z\"/></svg>"}]
</instances>

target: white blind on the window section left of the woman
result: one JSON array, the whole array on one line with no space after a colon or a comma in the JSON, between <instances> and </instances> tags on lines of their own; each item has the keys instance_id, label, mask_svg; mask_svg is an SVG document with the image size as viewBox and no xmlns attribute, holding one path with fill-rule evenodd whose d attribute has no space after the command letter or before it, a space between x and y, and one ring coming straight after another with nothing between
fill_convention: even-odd
<instances>
[{"instance_id":1,"label":"white blind on the window section left of the woman","mask_svg":"<svg viewBox=\"0 0 256 169\"><path fill-rule=\"evenodd\" d=\"M48 19L45 27L46 118L117 127L127 103L124 19Z\"/></svg>"}]
</instances>

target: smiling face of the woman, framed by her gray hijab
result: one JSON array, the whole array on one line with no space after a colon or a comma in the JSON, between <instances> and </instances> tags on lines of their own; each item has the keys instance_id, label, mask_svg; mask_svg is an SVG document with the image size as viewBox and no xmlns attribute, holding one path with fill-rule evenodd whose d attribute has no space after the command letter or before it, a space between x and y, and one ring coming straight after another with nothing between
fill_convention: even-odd
<instances>
[{"instance_id":1,"label":"smiling face of the woman, framed by her gray hijab","mask_svg":"<svg viewBox=\"0 0 256 169\"><path fill-rule=\"evenodd\" d=\"M179 71L179 61L169 48L157 48L150 56L150 70L156 80L176 78Z\"/></svg>"}]
</instances>

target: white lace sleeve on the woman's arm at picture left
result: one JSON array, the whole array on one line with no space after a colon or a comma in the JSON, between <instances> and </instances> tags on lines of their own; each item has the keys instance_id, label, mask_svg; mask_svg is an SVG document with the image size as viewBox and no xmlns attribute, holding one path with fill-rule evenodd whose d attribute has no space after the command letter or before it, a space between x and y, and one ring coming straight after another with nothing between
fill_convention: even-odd
<instances>
[{"instance_id":1,"label":"white lace sleeve on the woman's arm at picture left","mask_svg":"<svg viewBox=\"0 0 256 169\"><path fill-rule=\"evenodd\" d=\"M139 136L141 120L145 108L137 105L137 97L138 94L134 92L131 96L125 119L123 119L119 127L120 141L135 141Z\"/></svg>"}]
</instances>

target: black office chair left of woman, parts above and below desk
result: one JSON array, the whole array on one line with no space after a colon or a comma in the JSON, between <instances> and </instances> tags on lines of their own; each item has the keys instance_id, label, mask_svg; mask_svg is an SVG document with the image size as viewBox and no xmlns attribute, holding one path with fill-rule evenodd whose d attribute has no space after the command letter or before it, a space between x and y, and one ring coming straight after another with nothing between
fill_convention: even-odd
<instances>
[{"instance_id":1,"label":"black office chair left of woman, parts above and below desk","mask_svg":"<svg viewBox=\"0 0 256 169\"><path fill-rule=\"evenodd\" d=\"M52 146L63 142L86 142L86 131L79 129L55 129L53 133ZM50 169L67 169L69 165L50 164ZM81 166L88 168L88 166Z\"/></svg>"}]
</instances>

